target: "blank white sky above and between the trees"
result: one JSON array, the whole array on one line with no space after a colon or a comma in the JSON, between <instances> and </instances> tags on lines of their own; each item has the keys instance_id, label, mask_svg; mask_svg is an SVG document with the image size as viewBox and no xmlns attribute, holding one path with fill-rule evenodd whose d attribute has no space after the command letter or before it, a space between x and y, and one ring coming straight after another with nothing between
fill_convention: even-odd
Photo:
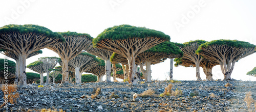
<instances>
[{"instance_id":1,"label":"blank white sky above and between the trees","mask_svg":"<svg viewBox=\"0 0 256 112\"><path fill-rule=\"evenodd\" d=\"M200 5L200 6L199 6ZM256 1L0 1L0 27L7 24L37 24L53 32L88 33L97 37L104 29L120 24L145 26L169 35L172 42L237 39L256 45ZM200 9L198 8L200 7ZM179 24L177 27L175 24ZM27 60L58 57L48 49ZM234 66L231 78L256 80L247 76L256 64L256 53ZM0 54L0 58L7 58ZM7 58L8 59L8 58ZM12 60L12 59L10 59ZM14 60L13 60L14 61ZM152 66L152 78L164 80L169 61ZM27 72L33 72L27 69ZM196 80L196 68L175 67L174 79ZM214 79L223 79L220 66L212 69ZM200 68L201 78L205 74Z\"/></svg>"}]
</instances>

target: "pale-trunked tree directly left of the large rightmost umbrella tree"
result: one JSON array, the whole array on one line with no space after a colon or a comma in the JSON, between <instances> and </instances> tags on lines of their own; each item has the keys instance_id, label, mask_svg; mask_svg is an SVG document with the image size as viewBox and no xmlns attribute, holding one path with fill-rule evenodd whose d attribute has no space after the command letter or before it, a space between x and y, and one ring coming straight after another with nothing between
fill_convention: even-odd
<instances>
[{"instance_id":1,"label":"pale-trunked tree directly left of the large rightmost umbrella tree","mask_svg":"<svg viewBox=\"0 0 256 112\"><path fill-rule=\"evenodd\" d=\"M183 52L183 59L186 60L190 60L193 61L196 64L196 77L197 80L202 80L200 77L200 62L203 60L202 57L200 57L200 55L196 54L196 50L198 49L198 47L205 43L206 41L204 40L195 40L195 41L189 41L189 42L185 42L183 43L184 46L181 48L182 52Z\"/></svg>"}]
</instances>

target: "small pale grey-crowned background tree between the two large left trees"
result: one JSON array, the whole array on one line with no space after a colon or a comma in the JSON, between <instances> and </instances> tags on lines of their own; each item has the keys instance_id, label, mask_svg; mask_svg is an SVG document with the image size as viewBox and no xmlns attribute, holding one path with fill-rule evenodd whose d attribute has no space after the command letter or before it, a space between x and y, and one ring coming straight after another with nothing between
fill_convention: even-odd
<instances>
[{"instance_id":1,"label":"small pale grey-crowned background tree between the two large left trees","mask_svg":"<svg viewBox=\"0 0 256 112\"><path fill-rule=\"evenodd\" d=\"M58 60L59 60L59 58L57 58L57 57L42 57L42 58L38 59L38 61L43 63L44 66L42 66L42 68L47 73L47 76L46 76L46 84L47 85L50 82L49 75L50 75L51 69L53 69L57 65Z\"/></svg>"}]
</instances>

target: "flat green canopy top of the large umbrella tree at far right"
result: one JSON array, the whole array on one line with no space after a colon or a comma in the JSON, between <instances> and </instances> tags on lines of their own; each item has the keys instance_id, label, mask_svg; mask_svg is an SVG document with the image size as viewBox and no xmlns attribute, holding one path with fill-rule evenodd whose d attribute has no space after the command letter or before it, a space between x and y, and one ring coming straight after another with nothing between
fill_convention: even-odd
<instances>
[{"instance_id":1,"label":"flat green canopy top of the large umbrella tree at far right","mask_svg":"<svg viewBox=\"0 0 256 112\"><path fill-rule=\"evenodd\" d=\"M207 48L208 46L212 46L212 45L227 45L230 47L237 47L237 48L256 48L255 45L250 44L249 42L221 39L221 40L213 40L200 45L196 53L201 52L202 47Z\"/></svg>"}]
</instances>

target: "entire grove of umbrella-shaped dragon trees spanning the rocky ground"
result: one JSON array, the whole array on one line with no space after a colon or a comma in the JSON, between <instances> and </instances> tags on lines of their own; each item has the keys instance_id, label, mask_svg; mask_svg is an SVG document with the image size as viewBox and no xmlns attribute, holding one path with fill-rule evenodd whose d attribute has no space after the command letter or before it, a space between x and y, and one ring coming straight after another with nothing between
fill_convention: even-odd
<instances>
[{"instance_id":1,"label":"entire grove of umbrella-shaped dragon trees spanning the rocky ground","mask_svg":"<svg viewBox=\"0 0 256 112\"><path fill-rule=\"evenodd\" d=\"M14 82L18 85L27 84L26 59L41 53L42 48L53 50L59 58L39 58L28 68L40 74L40 83L44 82L43 73L47 73L46 83L50 74L55 81L60 73L61 84L74 78L76 83L81 83L83 72L95 74L98 81L106 75L106 82L110 82L113 72L114 79L123 77L136 85L141 77L151 81L151 65L168 58L172 59L171 64L176 58L176 66L196 67L198 80L201 80L200 66L206 78L212 80L212 67L220 65L227 80L231 79L234 63L255 52L255 45L237 40L196 40L183 44L169 40L170 37L160 31L126 24L105 29L96 38L76 32L52 32L33 24L0 28L0 52L16 61ZM61 66L55 67L57 63ZM140 70L136 70L138 66ZM170 78L172 70L171 66Z\"/></svg>"}]
</instances>

